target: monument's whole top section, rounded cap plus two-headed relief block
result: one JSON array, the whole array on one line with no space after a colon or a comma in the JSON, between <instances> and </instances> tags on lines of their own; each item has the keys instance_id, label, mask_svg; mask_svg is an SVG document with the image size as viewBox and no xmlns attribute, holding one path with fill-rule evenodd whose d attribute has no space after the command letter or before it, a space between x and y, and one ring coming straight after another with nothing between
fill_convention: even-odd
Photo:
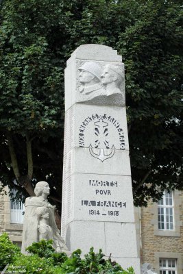
<instances>
[{"instance_id":1,"label":"monument's whole top section, rounded cap plus two-headed relief block","mask_svg":"<svg viewBox=\"0 0 183 274\"><path fill-rule=\"evenodd\" d=\"M78 102L125 105L124 65L117 51L101 45L82 45L74 51L65 69L66 110Z\"/></svg>"}]
</instances>

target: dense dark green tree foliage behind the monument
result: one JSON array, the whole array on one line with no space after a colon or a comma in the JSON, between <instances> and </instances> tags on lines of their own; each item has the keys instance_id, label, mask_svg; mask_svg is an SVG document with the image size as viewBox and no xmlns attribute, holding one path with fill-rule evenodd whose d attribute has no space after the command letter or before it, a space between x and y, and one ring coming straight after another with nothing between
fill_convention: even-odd
<instances>
[{"instance_id":1,"label":"dense dark green tree foliage behind the monument","mask_svg":"<svg viewBox=\"0 0 183 274\"><path fill-rule=\"evenodd\" d=\"M136 204L182 189L182 4L169 0L1 2L3 185L16 179L19 193L33 195L47 179L59 205L64 68L87 43L123 55Z\"/></svg>"}]
</instances>

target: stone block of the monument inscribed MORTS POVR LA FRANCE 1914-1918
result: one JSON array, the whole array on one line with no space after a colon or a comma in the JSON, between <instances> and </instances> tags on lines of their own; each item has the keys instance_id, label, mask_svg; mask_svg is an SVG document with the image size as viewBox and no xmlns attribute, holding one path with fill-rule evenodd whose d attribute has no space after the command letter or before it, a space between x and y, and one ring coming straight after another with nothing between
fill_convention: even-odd
<instances>
[{"instance_id":1,"label":"stone block of the monument inscribed MORTS POVR LA FRANCE 1914-1918","mask_svg":"<svg viewBox=\"0 0 183 274\"><path fill-rule=\"evenodd\" d=\"M73 220L134 223L130 176L75 173L63 182L62 197L62 225Z\"/></svg>"}]
</instances>

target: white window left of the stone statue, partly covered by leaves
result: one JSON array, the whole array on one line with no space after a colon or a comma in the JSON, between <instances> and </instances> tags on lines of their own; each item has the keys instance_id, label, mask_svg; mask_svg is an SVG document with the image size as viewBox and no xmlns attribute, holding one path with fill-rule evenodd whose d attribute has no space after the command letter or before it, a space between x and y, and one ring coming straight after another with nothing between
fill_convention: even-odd
<instances>
[{"instance_id":1,"label":"white window left of the stone statue, partly covered by leaves","mask_svg":"<svg viewBox=\"0 0 183 274\"><path fill-rule=\"evenodd\" d=\"M13 197L16 195L16 190L12 190ZM10 202L10 216L11 223L23 223L24 203L19 200L11 200Z\"/></svg>"}]
</instances>

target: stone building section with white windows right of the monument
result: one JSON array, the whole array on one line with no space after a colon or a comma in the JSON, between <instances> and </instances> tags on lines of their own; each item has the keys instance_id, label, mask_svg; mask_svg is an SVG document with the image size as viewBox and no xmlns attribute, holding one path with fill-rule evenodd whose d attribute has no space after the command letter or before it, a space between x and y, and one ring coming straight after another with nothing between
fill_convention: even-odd
<instances>
[{"instance_id":1,"label":"stone building section with white windows right of the monument","mask_svg":"<svg viewBox=\"0 0 183 274\"><path fill-rule=\"evenodd\" d=\"M156 273L183 273L183 191L164 192L158 203L138 210L141 261Z\"/></svg>"}]
</instances>

